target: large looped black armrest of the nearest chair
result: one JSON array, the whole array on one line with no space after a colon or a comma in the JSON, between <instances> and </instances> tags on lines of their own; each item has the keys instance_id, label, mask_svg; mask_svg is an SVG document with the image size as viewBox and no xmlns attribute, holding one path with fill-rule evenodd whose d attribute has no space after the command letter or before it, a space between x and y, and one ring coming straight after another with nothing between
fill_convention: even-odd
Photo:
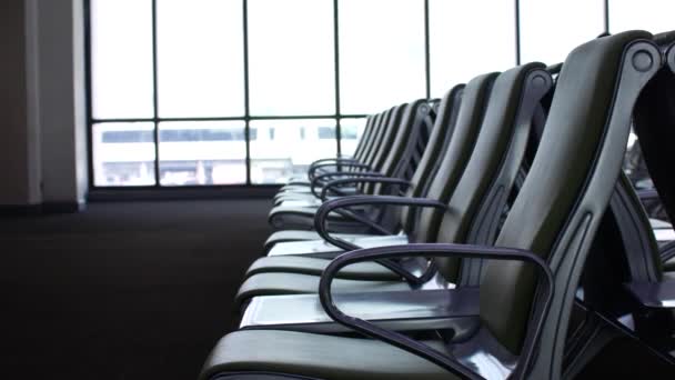
<instances>
[{"instance_id":1,"label":"large looped black armrest of the nearest chair","mask_svg":"<svg viewBox=\"0 0 675 380\"><path fill-rule=\"evenodd\" d=\"M404 334L395 331L390 331L377 327L374 323L362 319L344 314L333 302L331 284L335 274L344 267L362 261L373 261L381 259L397 259L409 257L463 257L463 258L480 258L490 260L517 260L532 263L541 272L542 296L543 301L541 308L533 308L535 312L534 329L528 329L523 350L521 351L521 360L518 361L511 378L524 378L532 362L534 350L538 341L543 322L548 313L551 302L553 300L553 273L548 264L538 256L520 249L511 248L494 248L470 244L406 244L406 246L390 246L362 249L352 252L346 252L335 258L323 271L319 283L319 298L325 312L338 323L341 323L354 331L361 332L367 337L382 340L389 344L406 350L413 354L424 358L447 371L466 379L481 379L480 376L463 367L456 360L446 357L445 354L417 342Z\"/></svg>"}]
</instances>

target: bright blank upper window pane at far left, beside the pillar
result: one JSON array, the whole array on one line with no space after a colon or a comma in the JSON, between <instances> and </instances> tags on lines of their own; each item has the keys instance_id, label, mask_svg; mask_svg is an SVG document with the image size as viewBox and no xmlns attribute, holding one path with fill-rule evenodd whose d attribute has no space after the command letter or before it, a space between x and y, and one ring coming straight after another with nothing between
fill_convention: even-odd
<instances>
[{"instance_id":1,"label":"bright blank upper window pane at far left, beside the pillar","mask_svg":"<svg viewBox=\"0 0 675 380\"><path fill-rule=\"evenodd\" d=\"M152 118L152 4L91 1L92 114Z\"/></svg>"}]
</instances>

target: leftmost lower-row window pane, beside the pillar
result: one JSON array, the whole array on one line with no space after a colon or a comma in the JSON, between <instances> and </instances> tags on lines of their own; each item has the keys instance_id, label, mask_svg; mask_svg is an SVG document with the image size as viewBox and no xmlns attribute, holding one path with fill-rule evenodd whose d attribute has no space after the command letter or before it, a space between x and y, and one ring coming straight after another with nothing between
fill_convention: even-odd
<instances>
[{"instance_id":1,"label":"leftmost lower-row window pane, beside the pillar","mask_svg":"<svg viewBox=\"0 0 675 380\"><path fill-rule=\"evenodd\" d=\"M93 124L94 186L154 184L153 126L151 122Z\"/></svg>"}]
</instances>

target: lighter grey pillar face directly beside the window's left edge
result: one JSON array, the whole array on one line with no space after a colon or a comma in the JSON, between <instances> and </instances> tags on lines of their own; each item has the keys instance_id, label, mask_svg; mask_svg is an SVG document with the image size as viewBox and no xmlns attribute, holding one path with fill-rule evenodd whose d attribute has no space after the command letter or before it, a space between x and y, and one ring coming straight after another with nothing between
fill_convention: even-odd
<instances>
[{"instance_id":1,"label":"lighter grey pillar face directly beside the window's left edge","mask_svg":"<svg viewBox=\"0 0 675 380\"><path fill-rule=\"evenodd\" d=\"M27 1L39 3L42 201L83 202L87 122L82 1Z\"/></svg>"}]
</instances>

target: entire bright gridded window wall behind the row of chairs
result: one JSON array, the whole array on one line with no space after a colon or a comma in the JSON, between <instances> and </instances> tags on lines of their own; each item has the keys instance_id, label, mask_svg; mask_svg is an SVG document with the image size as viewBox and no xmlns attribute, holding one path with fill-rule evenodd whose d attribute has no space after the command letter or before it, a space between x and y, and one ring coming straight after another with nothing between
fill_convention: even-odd
<instances>
[{"instance_id":1,"label":"entire bright gridded window wall behind the row of chairs","mask_svg":"<svg viewBox=\"0 0 675 380\"><path fill-rule=\"evenodd\" d=\"M506 70L517 47L520 62L553 64L604 32L605 16L613 32L658 32L675 11L657 0L84 1L94 187L282 183L352 154L367 114Z\"/></svg>"}]
</instances>

